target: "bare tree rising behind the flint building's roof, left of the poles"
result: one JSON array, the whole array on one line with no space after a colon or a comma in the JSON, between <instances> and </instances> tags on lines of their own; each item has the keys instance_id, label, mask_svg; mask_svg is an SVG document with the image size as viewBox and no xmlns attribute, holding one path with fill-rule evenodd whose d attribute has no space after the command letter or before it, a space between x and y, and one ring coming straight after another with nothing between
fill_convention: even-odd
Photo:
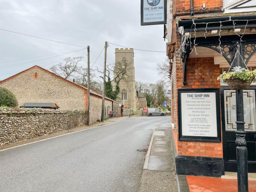
<instances>
[{"instance_id":1,"label":"bare tree rising behind the flint building's roof, left of the poles","mask_svg":"<svg viewBox=\"0 0 256 192\"><path fill-rule=\"evenodd\" d=\"M50 71L65 79L71 79L78 70L78 63L82 60L82 57L66 57L63 62L50 67Z\"/></svg>"}]
</instances>

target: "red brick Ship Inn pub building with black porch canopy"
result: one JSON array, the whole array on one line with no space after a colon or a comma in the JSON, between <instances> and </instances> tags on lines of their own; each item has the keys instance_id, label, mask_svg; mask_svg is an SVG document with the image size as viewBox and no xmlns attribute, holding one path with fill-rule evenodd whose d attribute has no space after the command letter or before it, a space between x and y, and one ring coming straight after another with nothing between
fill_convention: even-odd
<instances>
[{"instance_id":1,"label":"red brick Ship Inn pub building with black porch canopy","mask_svg":"<svg viewBox=\"0 0 256 192\"><path fill-rule=\"evenodd\" d=\"M237 171L236 91L217 77L239 62L256 68L255 11L255 0L167 0L166 54L170 59L177 174L220 177L226 171ZM255 85L243 92L249 172L256 172ZM184 137L182 91L207 89L218 90L218 139Z\"/></svg>"}]
</instances>

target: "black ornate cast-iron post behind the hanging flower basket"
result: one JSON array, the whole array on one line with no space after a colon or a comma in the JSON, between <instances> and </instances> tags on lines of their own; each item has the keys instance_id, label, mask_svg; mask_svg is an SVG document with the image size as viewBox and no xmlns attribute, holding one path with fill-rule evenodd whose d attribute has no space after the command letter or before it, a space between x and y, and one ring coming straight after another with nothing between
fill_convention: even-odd
<instances>
[{"instance_id":1,"label":"black ornate cast-iron post behind the hanging flower basket","mask_svg":"<svg viewBox=\"0 0 256 192\"><path fill-rule=\"evenodd\" d=\"M238 45L241 56L243 56L242 44ZM242 58L235 57L236 67L244 67ZM236 131L236 151L237 151L237 185L238 192L248 192L248 165L247 165L247 147L245 140L245 131L244 131L244 99L243 99L243 90L236 90L236 116L237 116L237 131Z\"/></svg>"}]
</instances>

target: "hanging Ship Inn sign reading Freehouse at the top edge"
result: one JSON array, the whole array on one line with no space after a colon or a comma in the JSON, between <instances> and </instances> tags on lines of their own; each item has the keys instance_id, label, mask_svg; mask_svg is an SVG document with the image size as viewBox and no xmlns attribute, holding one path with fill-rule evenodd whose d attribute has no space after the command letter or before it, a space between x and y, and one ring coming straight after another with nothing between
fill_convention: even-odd
<instances>
[{"instance_id":1,"label":"hanging Ship Inn sign reading Freehouse at the top edge","mask_svg":"<svg viewBox=\"0 0 256 192\"><path fill-rule=\"evenodd\" d=\"M141 25L166 24L166 0L141 0Z\"/></svg>"}]
</instances>

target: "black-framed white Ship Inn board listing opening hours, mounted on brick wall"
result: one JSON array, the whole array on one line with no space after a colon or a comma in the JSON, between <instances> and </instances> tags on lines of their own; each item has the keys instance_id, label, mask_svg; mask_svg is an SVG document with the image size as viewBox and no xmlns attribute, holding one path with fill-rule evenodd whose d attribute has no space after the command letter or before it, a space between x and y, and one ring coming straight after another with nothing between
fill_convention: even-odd
<instances>
[{"instance_id":1,"label":"black-framed white Ship Inn board listing opening hours, mounted on brick wall","mask_svg":"<svg viewBox=\"0 0 256 192\"><path fill-rule=\"evenodd\" d=\"M221 142L219 89L178 89L179 140Z\"/></svg>"}]
</instances>

